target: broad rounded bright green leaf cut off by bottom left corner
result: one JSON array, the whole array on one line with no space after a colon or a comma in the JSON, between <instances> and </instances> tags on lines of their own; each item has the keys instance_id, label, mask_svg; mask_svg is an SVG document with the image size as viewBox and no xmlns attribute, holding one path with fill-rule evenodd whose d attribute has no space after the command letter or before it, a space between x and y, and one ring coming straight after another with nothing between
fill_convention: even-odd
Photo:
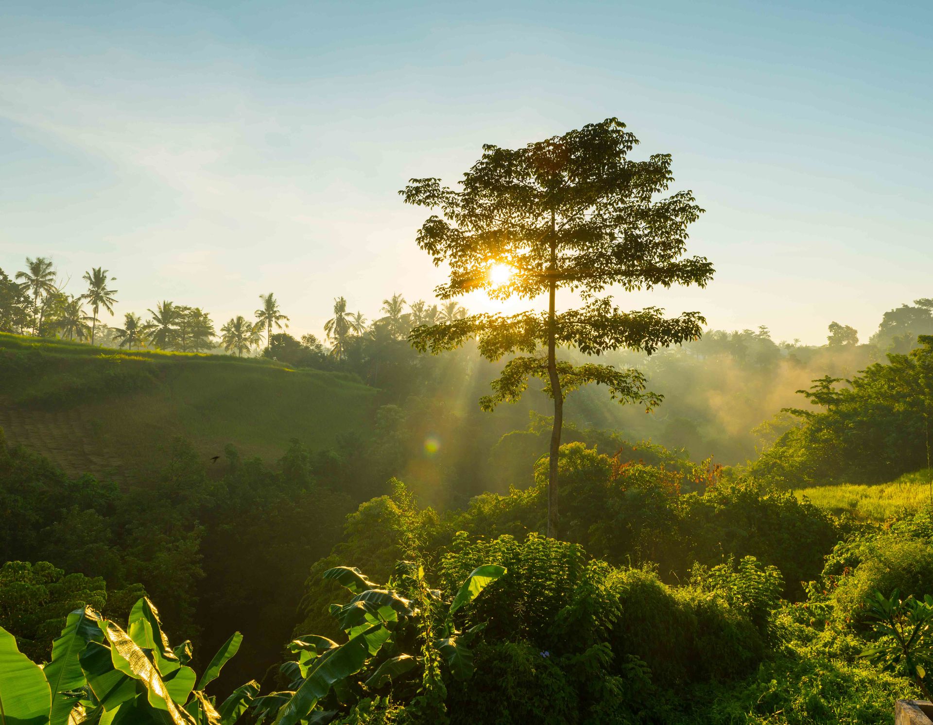
<instances>
[{"instance_id":1,"label":"broad rounded bright green leaf cut off by bottom left corner","mask_svg":"<svg viewBox=\"0 0 933 725\"><path fill-rule=\"evenodd\" d=\"M0 627L0 725L45 725L51 706L46 676Z\"/></svg>"}]
</instances>

